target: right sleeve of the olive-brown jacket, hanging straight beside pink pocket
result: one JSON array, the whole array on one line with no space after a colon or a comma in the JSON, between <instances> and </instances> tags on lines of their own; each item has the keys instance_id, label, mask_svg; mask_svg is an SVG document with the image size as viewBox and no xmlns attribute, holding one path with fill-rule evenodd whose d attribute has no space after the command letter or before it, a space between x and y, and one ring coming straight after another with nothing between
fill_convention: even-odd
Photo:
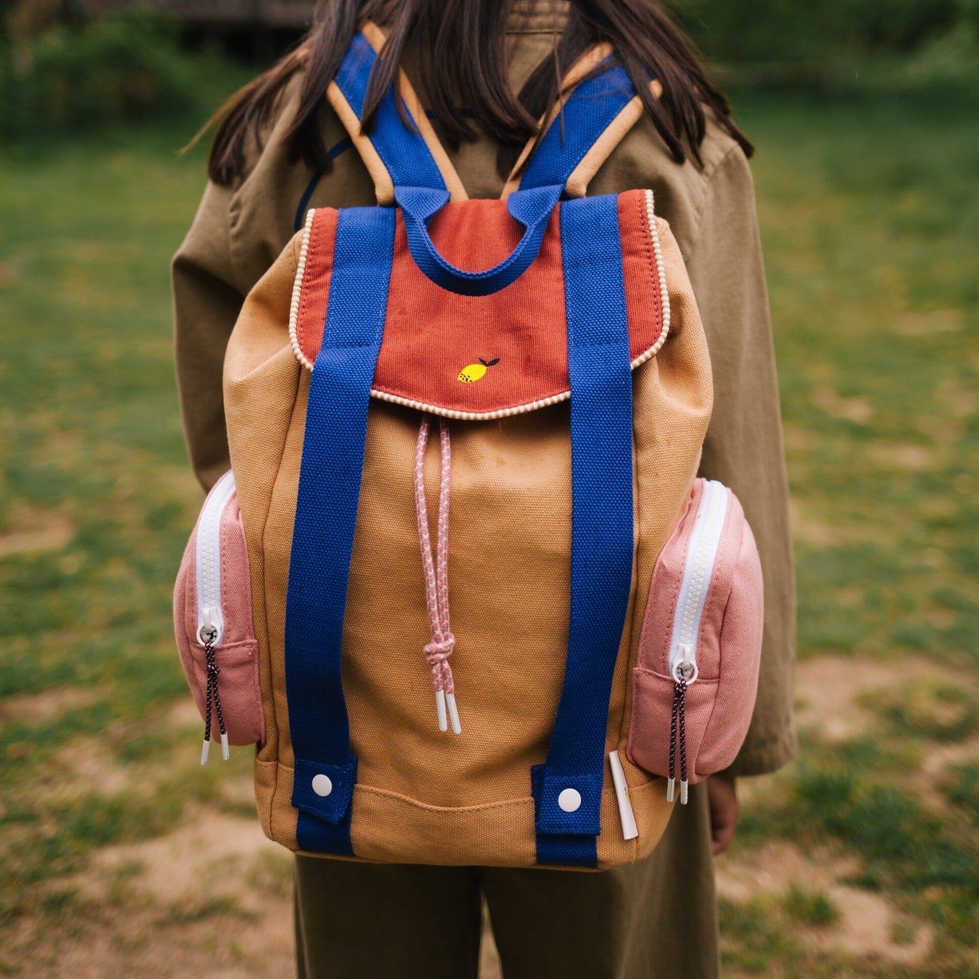
<instances>
[{"instance_id":1,"label":"right sleeve of the olive-brown jacket, hanging straight beside pink pocket","mask_svg":"<svg viewBox=\"0 0 979 979\"><path fill-rule=\"evenodd\" d=\"M758 700L728 774L761 774L780 768L796 749L795 580L765 267L751 171L737 147L710 177L687 267L714 373L701 474L737 493L765 579Z\"/></svg>"}]
</instances>

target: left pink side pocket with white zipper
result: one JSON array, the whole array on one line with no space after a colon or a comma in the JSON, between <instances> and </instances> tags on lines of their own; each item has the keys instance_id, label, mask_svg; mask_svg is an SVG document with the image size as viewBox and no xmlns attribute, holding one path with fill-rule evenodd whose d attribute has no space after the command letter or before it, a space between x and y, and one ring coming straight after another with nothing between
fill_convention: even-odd
<instances>
[{"instance_id":1,"label":"left pink side pocket with white zipper","mask_svg":"<svg viewBox=\"0 0 979 979\"><path fill-rule=\"evenodd\" d=\"M234 745L262 741L248 544L231 473L211 489L187 543L173 589L173 626L184 676L206 723L210 677L210 737L224 734Z\"/></svg>"}]
</instances>

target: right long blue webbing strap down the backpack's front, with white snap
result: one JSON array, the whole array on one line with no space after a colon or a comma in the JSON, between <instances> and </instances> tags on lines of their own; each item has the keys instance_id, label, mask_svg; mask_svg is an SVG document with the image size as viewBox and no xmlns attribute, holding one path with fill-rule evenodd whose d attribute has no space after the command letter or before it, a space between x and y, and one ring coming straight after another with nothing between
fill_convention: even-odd
<instances>
[{"instance_id":1,"label":"right long blue webbing strap down the backpack's front, with white snap","mask_svg":"<svg viewBox=\"0 0 979 979\"><path fill-rule=\"evenodd\" d=\"M561 205L571 378L571 622L564 687L532 769L537 862L594 866L605 732L632 579L632 381L617 197ZM573 789L573 812L559 798ZM575 792L565 797L574 806Z\"/></svg>"}]
</instances>

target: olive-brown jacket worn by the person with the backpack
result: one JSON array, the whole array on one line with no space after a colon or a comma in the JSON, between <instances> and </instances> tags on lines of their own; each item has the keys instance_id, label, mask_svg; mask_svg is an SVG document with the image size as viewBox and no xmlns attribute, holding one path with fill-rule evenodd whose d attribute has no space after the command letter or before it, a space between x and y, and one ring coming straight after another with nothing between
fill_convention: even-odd
<instances>
[{"instance_id":1,"label":"olive-brown jacket worn by the person with the backpack","mask_svg":"<svg viewBox=\"0 0 979 979\"><path fill-rule=\"evenodd\" d=\"M549 54L555 27L562 26L561 8L526 0L514 5L507 49L515 86ZM405 68L411 76L410 63ZM244 178L227 188L208 185L173 260L180 403L191 461L205 487L229 466L221 369L244 297L293 236L306 207L375 203L373 183L352 149L341 152L318 180L303 163L290 161L281 136L298 95L294 81ZM341 144L347 134L325 99L322 117L326 145ZM649 119L642 118L599 169L589 193L654 191L656 211L670 222L686 260L707 332L714 414L701 471L740 497L765 575L758 703L747 740L730 769L747 775L779 768L795 749L795 583L788 489L751 171L738 145L713 122L700 152L701 165L675 163ZM470 197L499 197L503 180L495 155L496 145L485 136L449 153Z\"/></svg>"}]
</instances>

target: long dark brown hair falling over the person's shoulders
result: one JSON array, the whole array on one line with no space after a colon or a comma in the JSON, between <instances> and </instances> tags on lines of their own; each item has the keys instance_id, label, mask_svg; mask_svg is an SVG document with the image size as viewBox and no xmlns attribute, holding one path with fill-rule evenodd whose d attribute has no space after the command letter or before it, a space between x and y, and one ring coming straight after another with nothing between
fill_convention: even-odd
<instances>
[{"instance_id":1,"label":"long dark brown hair falling over the person's shoulders","mask_svg":"<svg viewBox=\"0 0 979 979\"><path fill-rule=\"evenodd\" d=\"M567 25L560 36L555 34L552 53L519 93L511 90L506 70L504 28L511 6L512 0L322 0L299 46L233 95L211 120L220 124L210 151L210 178L229 184L241 175L248 141L260 146L262 126L297 72L303 72L303 92L286 134L289 152L313 169L330 167L319 113L327 85L364 21L383 24L388 31L368 86L367 131L411 40L417 47L423 101L442 124L449 145L457 147L477 135L461 103L500 144L497 168L505 176L537 134L537 120L559 97L567 70L590 47L608 42L677 163L688 153L700 162L705 107L745 153L752 153L723 92L656 0L571 0ZM660 99L649 91L650 77L663 86Z\"/></svg>"}]
</instances>

